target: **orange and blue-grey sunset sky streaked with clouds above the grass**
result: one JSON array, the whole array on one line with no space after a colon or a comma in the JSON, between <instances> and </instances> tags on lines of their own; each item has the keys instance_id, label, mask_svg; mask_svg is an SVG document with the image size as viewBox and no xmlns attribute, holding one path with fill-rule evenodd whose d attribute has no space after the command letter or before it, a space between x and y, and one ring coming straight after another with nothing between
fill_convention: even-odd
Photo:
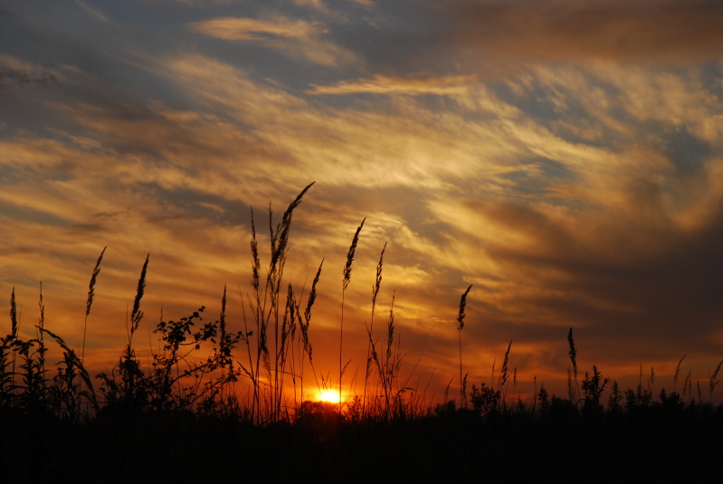
<instances>
[{"instance_id":1,"label":"orange and blue-grey sunset sky streaked with clouds above the grass","mask_svg":"<svg viewBox=\"0 0 723 484\"><path fill-rule=\"evenodd\" d=\"M723 5L712 1L0 1L0 293L33 335L138 346L205 306L243 329L251 214L309 292L319 372L364 372L394 297L402 374L441 398L581 374L706 388L723 359ZM366 218L351 280L347 251ZM286 283L285 282L285 283ZM469 286L461 332L457 315ZM247 306L246 306L247 307ZM9 322L7 323L9 327ZM9 329L8 329L9 331ZM377 339L378 338L378 339ZM239 356L241 358L241 356ZM495 376L496 378L496 376ZM680 382L678 382L680 390Z\"/></svg>"}]
</instances>

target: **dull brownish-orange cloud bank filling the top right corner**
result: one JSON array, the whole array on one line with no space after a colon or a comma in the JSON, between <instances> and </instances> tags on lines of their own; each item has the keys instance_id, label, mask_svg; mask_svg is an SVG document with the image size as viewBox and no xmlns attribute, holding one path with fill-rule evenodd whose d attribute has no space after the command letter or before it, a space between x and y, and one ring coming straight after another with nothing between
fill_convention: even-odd
<instances>
[{"instance_id":1,"label":"dull brownish-orange cloud bank filling the top right corner","mask_svg":"<svg viewBox=\"0 0 723 484\"><path fill-rule=\"evenodd\" d=\"M720 59L723 5L668 0L463 2L438 14L448 40L511 59L690 66Z\"/></svg>"}]
</instances>

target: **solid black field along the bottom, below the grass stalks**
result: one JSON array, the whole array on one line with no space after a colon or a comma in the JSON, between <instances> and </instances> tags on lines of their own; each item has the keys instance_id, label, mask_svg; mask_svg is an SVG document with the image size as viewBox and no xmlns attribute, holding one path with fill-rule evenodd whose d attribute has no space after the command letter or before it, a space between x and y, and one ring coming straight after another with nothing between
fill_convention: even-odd
<instances>
[{"instance_id":1,"label":"solid black field along the bottom, below the grass stalks","mask_svg":"<svg viewBox=\"0 0 723 484\"><path fill-rule=\"evenodd\" d=\"M654 403L584 415L449 412L344 422L334 408L255 425L192 413L73 423L2 411L5 482L715 482L723 411Z\"/></svg>"}]
</instances>

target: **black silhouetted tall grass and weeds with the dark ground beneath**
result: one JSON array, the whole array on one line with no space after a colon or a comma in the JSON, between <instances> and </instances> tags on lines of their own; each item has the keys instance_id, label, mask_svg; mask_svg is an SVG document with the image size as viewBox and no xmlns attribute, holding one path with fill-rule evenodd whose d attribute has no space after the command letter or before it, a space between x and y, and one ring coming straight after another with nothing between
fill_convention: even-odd
<instances>
[{"instance_id":1,"label":"black silhouetted tall grass and weeds with the dark ground beneath","mask_svg":"<svg viewBox=\"0 0 723 484\"><path fill-rule=\"evenodd\" d=\"M664 388L653 394L654 371L643 385L642 367L634 389L623 390L596 365L580 382L571 328L566 398L550 395L544 384L537 391L536 380L534 398L522 401L515 389L516 368L508 396L510 341L499 375L493 369L489 384L471 384L468 401L461 329L471 286L461 296L457 315L460 401L445 395L442 403L426 403L424 390L413 380L414 368L406 377L401 373L404 354L394 297L382 342L373 334L385 249L372 289L363 393L349 402L309 402L307 369L314 379L310 386L336 388L328 376L317 375L309 340L323 261L305 305L304 291L283 280L291 215L310 186L275 228L270 210L271 261L265 280L252 222L252 292L242 294L251 323L244 317L243 331L228 330L224 287L217 320L205 321L201 307L185 318L157 323L159 346L149 367L141 365L133 344L143 318L149 256L140 272L127 343L118 363L95 378L83 365L82 350L77 356L45 327L42 285L36 336L20 336L13 289L10 333L0 337L0 479L572 483L719 478L720 470L707 463L723 451L723 404L713 401L723 363L709 375L705 400L699 384L693 394L690 372L681 393L676 392L685 356L670 394ZM361 228L347 254L342 298ZM83 340L104 251L90 280ZM342 301L342 324L343 311ZM62 349L54 375L46 367L44 335ZM343 327L339 384L344 375L341 337ZM202 350L204 356L195 357ZM248 398L240 396L243 384L251 387Z\"/></svg>"}]
</instances>

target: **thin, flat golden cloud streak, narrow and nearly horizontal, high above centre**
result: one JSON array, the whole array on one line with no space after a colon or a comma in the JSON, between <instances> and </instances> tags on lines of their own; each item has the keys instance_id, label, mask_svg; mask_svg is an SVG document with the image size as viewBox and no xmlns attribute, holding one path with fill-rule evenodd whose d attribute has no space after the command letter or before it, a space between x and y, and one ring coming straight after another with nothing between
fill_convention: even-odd
<instances>
[{"instance_id":1,"label":"thin, flat golden cloud streak, narrow and nearly horizontal, high above centre","mask_svg":"<svg viewBox=\"0 0 723 484\"><path fill-rule=\"evenodd\" d=\"M376 74L372 79L340 81L330 86L314 85L311 94L406 94L438 96L466 93L474 76L446 76L441 78L397 77Z\"/></svg>"}]
</instances>

